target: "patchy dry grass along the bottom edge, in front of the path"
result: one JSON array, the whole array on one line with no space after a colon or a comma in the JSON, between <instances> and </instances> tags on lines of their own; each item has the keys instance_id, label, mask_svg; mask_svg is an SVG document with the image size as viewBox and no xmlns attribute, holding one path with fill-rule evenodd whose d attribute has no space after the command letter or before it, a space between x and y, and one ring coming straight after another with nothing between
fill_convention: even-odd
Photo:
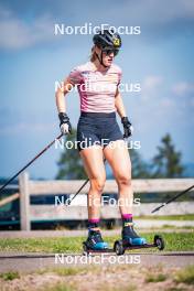
<instances>
[{"instance_id":1,"label":"patchy dry grass along the bottom edge, in front of the path","mask_svg":"<svg viewBox=\"0 0 194 291\"><path fill-rule=\"evenodd\" d=\"M129 270L130 268L130 270ZM115 273L116 271L120 273L120 276L122 276L123 271L128 270L128 273L132 274L132 278L134 276L136 278L136 269L133 269L133 267L129 267L129 266L108 266L106 268L106 273L111 274ZM76 280L72 280L71 276L83 276L83 280L84 280L84 274L88 274L88 271L90 271L90 276L93 279L93 273L95 272L96 274L101 274L101 267L96 266L96 267L91 267L91 266L87 266L87 267L67 267L67 268L58 268L58 267L54 267L54 268L46 268L44 270L40 270L36 271L35 273L39 274L44 274L44 273L55 273L58 274L60 280L57 282L51 281L51 283L46 283L42 287L42 291L76 291L78 290L78 285L76 283ZM140 271L140 269L139 269ZM33 276L35 274L33 273ZM32 273L31 273L32 274ZM14 280L17 278L21 278L24 279L26 274L22 274L21 276L18 272L13 272L13 271L9 271L6 273L1 273L0 278L2 278L4 281L7 280ZM67 277L67 278L63 278L63 277ZM74 277L75 278L75 277ZM86 277L87 278L87 277ZM130 277L129 277L130 278ZM162 289L161 285L161 290L165 290L165 291L183 291L183 290L187 290L184 288L184 285L181 285L180 283L184 283L190 285L190 288L192 288L192 285L194 285L194 265L193 266L188 266L188 267L184 267L182 269L177 270L173 270L168 271L163 270L163 265L157 265L150 269L144 269L142 271L142 278L144 281L144 284L147 283L157 283L157 282L164 282L165 280L171 280L171 282L173 283L172 287L170 287L169 289ZM93 287L93 284L91 284ZM91 288L93 289L93 288ZM105 282L100 282L98 283L98 289L95 288L95 290L105 290L105 291L136 291L139 290L137 285L133 284L133 281L130 282L130 284L126 285L126 284L121 284L121 287L117 287L116 284L114 285L112 283L108 284Z\"/></svg>"}]
</instances>

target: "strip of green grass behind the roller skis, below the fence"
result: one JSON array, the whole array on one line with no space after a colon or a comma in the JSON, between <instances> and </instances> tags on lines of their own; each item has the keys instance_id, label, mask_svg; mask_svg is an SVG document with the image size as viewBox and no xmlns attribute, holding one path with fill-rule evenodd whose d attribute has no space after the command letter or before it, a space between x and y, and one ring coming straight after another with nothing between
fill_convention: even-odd
<instances>
[{"instance_id":1,"label":"strip of green grass behind the roller skis, below the fence","mask_svg":"<svg viewBox=\"0 0 194 291\"><path fill-rule=\"evenodd\" d=\"M154 234L141 234L149 242L153 241ZM194 250L194 233L160 233L165 240L166 251ZM1 238L0 251L21 251L21 252L78 252L80 254L82 242L85 237L57 237L57 238ZM116 236L104 237L111 247L118 239ZM147 249L157 251L157 249ZM139 250L138 250L139 251ZM144 251L144 250L143 250Z\"/></svg>"}]
</instances>

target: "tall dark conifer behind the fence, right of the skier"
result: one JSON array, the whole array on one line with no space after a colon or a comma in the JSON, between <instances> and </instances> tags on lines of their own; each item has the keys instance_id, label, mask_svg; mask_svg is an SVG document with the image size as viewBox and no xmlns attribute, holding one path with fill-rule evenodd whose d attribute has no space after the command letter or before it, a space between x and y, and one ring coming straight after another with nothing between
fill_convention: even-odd
<instances>
[{"instance_id":1,"label":"tall dark conifer behind the fence, right of the skier","mask_svg":"<svg viewBox=\"0 0 194 291\"><path fill-rule=\"evenodd\" d=\"M181 164L182 153L175 151L171 136L166 133L158 153L152 160L153 177L177 177L183 174L184 168Z\"/></svg>"}]
</instances>

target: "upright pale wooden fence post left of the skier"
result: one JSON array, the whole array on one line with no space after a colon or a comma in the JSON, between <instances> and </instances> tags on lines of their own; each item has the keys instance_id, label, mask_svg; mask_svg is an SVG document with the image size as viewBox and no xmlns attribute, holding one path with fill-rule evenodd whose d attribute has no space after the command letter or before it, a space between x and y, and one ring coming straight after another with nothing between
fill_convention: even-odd
<instances>
[{"instance_id":1,"label":"upright pale wooden fence post left of the skier","mask_svg":"<svg viewBox=\"0 0 194 291\"><path fill-rule=\"evenodd\" d=\"M29 174L26 172L19 176L20 191L20 228L30 230L30 195L29 195Z\"/></svg>"}]
</instances>

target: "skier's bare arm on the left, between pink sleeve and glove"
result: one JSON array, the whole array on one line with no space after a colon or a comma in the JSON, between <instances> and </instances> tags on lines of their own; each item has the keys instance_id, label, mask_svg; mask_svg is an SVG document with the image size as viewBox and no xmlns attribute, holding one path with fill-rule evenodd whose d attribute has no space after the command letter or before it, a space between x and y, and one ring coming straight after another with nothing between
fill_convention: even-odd
<instances>
[{"instance_id":1,"label":"skier's bare arm on the left, between pink sleeve and glove","mask_svg":"<svg viewBox=\"0 0 194 291\"><path fill-rule=\"evenodd\" d=\"M60 112L66 112L66 103L65 103L65 96L67 93L74 87L74 84L71 83L68 78L66 78L63 82L63 85L57 88L57 91L55 94L56 98L56 107Z\"/></svg>"}]
</instances>

